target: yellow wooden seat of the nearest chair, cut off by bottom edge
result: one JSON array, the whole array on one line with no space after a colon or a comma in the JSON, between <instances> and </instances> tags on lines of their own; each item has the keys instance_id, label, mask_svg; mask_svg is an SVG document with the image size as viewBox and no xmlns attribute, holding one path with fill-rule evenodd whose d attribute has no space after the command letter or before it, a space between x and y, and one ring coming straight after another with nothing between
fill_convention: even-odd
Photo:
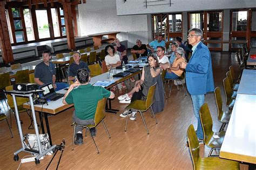
<instances>
[{"instance_id":1,"label":"yellow wooden seat of the nearest chair, cut off by bottom edge","mask_svg":"<svg viewBox=\"0 0 256 170\"><path fill-rule=\"evenodd\" d=\"M199 158L196 169L239 169L239 162L215 157Z\"/></svg>"}]
</instances>

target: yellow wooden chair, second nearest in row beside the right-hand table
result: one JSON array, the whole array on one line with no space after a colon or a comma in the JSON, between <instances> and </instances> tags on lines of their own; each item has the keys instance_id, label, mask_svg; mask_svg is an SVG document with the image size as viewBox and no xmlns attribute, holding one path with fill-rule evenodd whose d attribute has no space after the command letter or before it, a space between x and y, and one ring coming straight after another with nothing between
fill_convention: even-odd
<instances>
[{"instance_id":1,"label":"yellow wooden chair, second nearest in row beside the right-hand table","mask_svg":"<svg viewBox=\"0 0 256 170\"><path fill-rule=\"evenodd\" d=\"M206 146L211 147L211 151L208 154L208 157L210 157L213 150L220 149L223 143L225 132L212 131L212 116L207 103L204 103L203 105L201 105L199 110L199 116L200 116L200 121L201 121L201 125L204 132L204 143ZM219 138L215 138L213 136L218 136Z\"/></svg>"}]
</instances>

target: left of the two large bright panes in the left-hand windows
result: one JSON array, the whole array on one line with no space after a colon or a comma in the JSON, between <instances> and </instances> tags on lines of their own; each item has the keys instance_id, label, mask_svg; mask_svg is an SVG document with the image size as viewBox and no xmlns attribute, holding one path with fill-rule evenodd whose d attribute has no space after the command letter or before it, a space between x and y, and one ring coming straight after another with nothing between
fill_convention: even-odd
<instances>
[{"instance_id":1,"label":"left of the two large bright panes in the left-hand windows","mask_svg":"<svg viewBox=\"0 0 256 170\"><path fill-rule=\"evenodd\" d=\"M30 9L24 9L23 15L24 15L24 20L25 20L26 36L28 37L28 41L35 40L35 34L33 31L33 23L32 23Z\"/></svg>"}]
</instances>

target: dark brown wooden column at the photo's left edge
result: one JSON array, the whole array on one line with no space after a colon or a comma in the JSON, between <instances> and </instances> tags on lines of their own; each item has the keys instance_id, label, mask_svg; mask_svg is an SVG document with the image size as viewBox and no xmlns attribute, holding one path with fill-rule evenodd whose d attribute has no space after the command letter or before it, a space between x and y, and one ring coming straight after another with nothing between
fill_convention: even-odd
<instances>
[{"instance_id":1,"label":"dark brown wooden column at the photo's left edge","mask_svg":"<svg viewBox=\"0 0 256 170\"><path fill-rule=\"evenodd\" d=\"M0 48L3 62L8 64L14 62L14 54L12 54L4 5L4 1L0 1Z\"/></svg>"}]
</instances>

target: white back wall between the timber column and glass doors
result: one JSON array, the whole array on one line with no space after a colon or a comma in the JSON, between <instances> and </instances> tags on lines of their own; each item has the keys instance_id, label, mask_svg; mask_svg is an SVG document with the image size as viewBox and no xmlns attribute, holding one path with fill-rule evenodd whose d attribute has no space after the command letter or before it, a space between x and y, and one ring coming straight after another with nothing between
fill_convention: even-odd
<instances>
[{"instance_id":1,"label":"white back wall between the timber column and glass doors","mask_svg":"<svg viewBox=\"0 0 256 170\"><path fill-rule=\"evenodd\" d=\"M87 0L78 5L78 12L80 36L121 31L117 38L128 40L129 48L136 44L137 38L144 44L148 42L147 15L117 16L116 0Z\"/></svg>"}]
</instances>

